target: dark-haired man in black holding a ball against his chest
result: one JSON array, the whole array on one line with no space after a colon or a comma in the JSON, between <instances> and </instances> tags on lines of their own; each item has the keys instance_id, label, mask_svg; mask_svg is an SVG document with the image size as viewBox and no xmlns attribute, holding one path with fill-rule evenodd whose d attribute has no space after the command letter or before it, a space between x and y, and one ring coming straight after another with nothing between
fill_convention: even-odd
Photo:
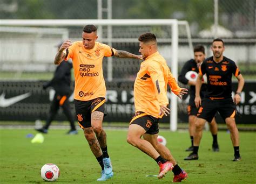
<instances>
[{"instance_id":1,"label":"dark-haired man in black holding a ball against his chest","mask_svg":"<svg viewBox=\"0 0 256 184\"><path fill-rule=\"evenodd\" d=\"M196 107L196 104L194 103L194 97L196 94L196 82L192 80L187 80L185 75L189 71L199 72L198 67L205 60L205 48L203 45L197 45L194 47L194 59L191 59L185 63L183 68L181 69L181 73L178 77L178 80L183 84L190 85L190 101L187 106L187 113L188 113L188 131L190 133L190 139L191 139L191 146L186 149L186 151L193 151L193 141L194 141L194 131L196 129L196 119L197 119L197 112L198 108ZM205 95L205 91L207 88L206 85L207 81L204 81L200 90L200 97L203 98ZM210 125L210 131L212 133L213 137L213 143L212 143L212 151L218 152L219 151L219 145L217 141L217 132L218 127L217 123L215 121L215 118L212 119L212 122L209 123Z\"/></svg>"}]
</instances>

